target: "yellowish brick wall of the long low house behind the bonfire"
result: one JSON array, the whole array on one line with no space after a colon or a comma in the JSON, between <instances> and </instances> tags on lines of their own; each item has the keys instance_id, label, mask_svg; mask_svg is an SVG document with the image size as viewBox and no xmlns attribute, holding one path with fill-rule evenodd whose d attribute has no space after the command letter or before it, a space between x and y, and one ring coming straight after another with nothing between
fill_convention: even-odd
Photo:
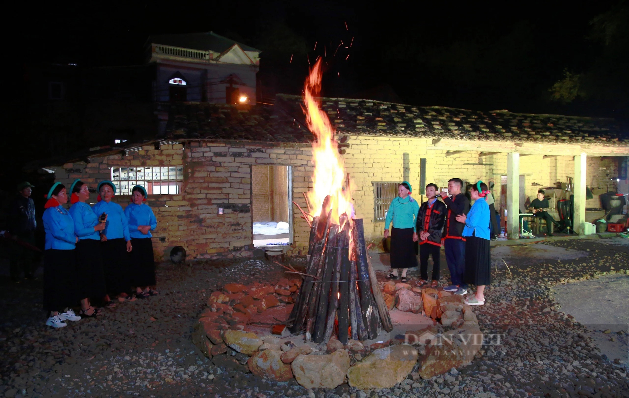
<instances>
[{"instance_id":1,"label":"yellowish brick wall of the long low house behind the bonfire","mask_svg":"<svg viewBox=\"0 0 629 398\"><path fill-rule=\"evenodd\" d=\"M383 221L374 221L372 182L401 181L403 153L409 153L410 178L414 197L420 199L420 159L426 158L426 183L446 186L448 179L459 177L470 182L493 180L496 207L499 208L500 176L506 175L506 153L482 157L478 152L463 152L446 157L445 150L428 149L430 140L352 136L347 141L343 160L355 188L352 196L357 218L364 219L365 238L378 241ZM543 154L521 157L520 172L526 174L526 194L535 197L538 186L565 182L574 175L572 157L542 158ZM588 158L587 184L604 187L608 175L614 174L615 162ZM178 195L150 196L148 204L157 217L153 233L157 258L169 255L173 246L184 246L189 258L248 257L252 255L252 165L292 166L292 196L306 208L302 192L312 187L311 147L308 144L238 143L187 141L162 145L159 149L145 146L129 155L108 155L89 158L89 163L67 163L55 172L57 180L67 187L80 178L92 189L100 180L109 179L110 167L140 165L184 166L182 192ZM614 174L615 175L615 174ZM597 199L598 200L598 199ZM114 201L126 206L129 196L116 196ZM96 194L91 197L96 202ZM591 206L588 202L588 207ZM218 208L224 214L218 214ZM289 254L303 252L308 245L309 227L297 209L293 211L294 244Z\"/></svg>"}]
</instances>

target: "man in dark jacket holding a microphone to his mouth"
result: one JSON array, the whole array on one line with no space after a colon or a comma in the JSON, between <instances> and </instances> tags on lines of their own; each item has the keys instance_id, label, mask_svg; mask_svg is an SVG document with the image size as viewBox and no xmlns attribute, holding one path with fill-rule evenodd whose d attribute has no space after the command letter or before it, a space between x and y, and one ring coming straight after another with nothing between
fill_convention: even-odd
<instances>
[{"instance_id":1,"label":"man in dark jacket holding a microphone to his mouth","mask_svg":"<svg viewBox=\"0 0 629 398\"><path fill-rule=\"evenodd\" d=\"M448 214L445 221L445 234L443 235L443 248L445 250L445 260L450 270L451 285L444 287L447 292L455 294L466 294L467 285L463 283L465 272L465 238L462 235L464 223L456 220L458 214L467 214L470 211L470 202L461 193L463 181L461 179L450 179L448 181L448 192L440 192L440 195L448 206Z\"/></svg>"}]
</instances>

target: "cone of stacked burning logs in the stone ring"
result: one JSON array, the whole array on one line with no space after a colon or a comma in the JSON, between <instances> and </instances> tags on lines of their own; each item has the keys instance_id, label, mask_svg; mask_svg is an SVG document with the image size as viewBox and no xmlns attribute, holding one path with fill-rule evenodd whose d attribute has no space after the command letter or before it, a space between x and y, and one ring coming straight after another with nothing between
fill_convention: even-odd
<instances>
[{"instance_id":1,"label":"cone of stacked burning logs in the stone ring","mask_svg":"<svg viewBox=\"0 0 629 398\"><path fill-rule=\"evenodd\" d=\"M289 316L290 330L306 331L316 343L333 333L343 344L349 337L373 339L393 327L369 262L363 222L343 213L333 224L329 202L311 224L307 275Z\"/></svg>"}]
</instances>

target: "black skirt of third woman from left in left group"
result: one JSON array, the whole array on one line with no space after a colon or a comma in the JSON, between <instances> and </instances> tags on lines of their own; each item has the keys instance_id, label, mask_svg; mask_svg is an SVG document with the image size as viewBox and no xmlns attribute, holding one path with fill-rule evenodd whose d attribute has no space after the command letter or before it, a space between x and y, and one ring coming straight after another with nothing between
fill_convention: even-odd
<instances>
[{"instance_id":1,"label":"black skirt of third woman from left in left group","mask_svg":"<svg viewBox=\"0 0 629 398\"><path fill-rule=\"evenodd\" d=\"M130 293L129 255L126 252L125 239L108 239L101 242L101 253L107 293L110 296Z\"/></svg>"}]
</instances>

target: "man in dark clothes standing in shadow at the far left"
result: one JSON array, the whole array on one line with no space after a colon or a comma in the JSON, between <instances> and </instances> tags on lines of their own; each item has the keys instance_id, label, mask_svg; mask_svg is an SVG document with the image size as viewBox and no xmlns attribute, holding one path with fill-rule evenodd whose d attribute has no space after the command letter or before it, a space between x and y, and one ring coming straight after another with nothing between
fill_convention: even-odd
<instances>
[{"instance_id":1,"label":"man in dark clothes standing in shadow at the far left","mask_svg":"<svg viewBox=\"0 0 629 398\"><path fill-rule=\"evenodd\" d=\"M33 185L29 182L18 184L18 194L9 208L9 233L21 241L35 245L35 202L31 199ZM11 280L19 282L21 272L26 279L33 279L33 251L13 243L11 245Z\"/></svg>"}]
</instances>

